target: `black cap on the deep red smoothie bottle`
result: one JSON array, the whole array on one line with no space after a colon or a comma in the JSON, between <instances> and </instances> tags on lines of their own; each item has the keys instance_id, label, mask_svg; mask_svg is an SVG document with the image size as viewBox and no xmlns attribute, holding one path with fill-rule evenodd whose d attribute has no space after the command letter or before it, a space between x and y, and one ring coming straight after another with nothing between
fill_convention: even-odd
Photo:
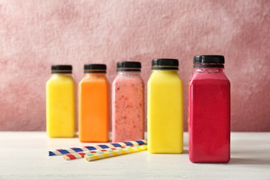
<instances>
[{"instance_id":1,"label":"black cap on the deep red smoothie bottle","mask_svg":"<svg viewBox=\"0 0 270 180\"><path fill-rule=\"evenodd\" d=\"M224 68L223 55L195 55L193 57L194 68Z\"/></svg>"}]
</instances>

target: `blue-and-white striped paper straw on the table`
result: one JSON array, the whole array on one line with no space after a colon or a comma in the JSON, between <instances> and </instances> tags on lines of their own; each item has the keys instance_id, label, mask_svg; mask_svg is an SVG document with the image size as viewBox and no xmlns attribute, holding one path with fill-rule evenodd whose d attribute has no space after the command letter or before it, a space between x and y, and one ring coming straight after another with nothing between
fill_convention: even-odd
<instances>
[{"instance_id":1,"label":"blue-and-white striped paper straw on the table","mask_svg":"<svg viewBox=\"0 0 270 180\"><path fill-rule=\"evenodd\" d=\"M108 149L112 147L122 147L127 145L146 145L147 140L140 140L140 141L128 141L124 143L110 143L107 145L93 145L93 146L84 146L84 147L71 147L69 149L59 149L59 150L53 150L48 152L48 156L60 156L64 154L73 154L78 152L85 152L85 151L91 151L91 150L102 150L102 149Z\"/></svg>"}]
</instances>

